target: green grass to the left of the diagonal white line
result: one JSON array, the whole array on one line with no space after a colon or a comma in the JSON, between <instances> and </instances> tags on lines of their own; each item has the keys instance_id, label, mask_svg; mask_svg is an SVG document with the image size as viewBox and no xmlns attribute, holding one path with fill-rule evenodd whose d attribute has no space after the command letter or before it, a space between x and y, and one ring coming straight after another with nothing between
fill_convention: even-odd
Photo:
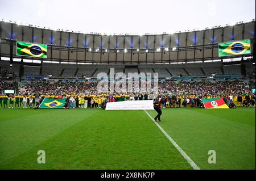
<instances>
[{"instance_id":1,"label":"green grass to the left of the diagonal white line","mask_svg":"<svg viewBox=\"0 0 256 181\"><path fill-rule=\"evenodd\" d=\"M9 109L1 115L1 169L192 169L144 111ZM46 164L37 163L41 149Z\"/></svg>"}]
</instances>

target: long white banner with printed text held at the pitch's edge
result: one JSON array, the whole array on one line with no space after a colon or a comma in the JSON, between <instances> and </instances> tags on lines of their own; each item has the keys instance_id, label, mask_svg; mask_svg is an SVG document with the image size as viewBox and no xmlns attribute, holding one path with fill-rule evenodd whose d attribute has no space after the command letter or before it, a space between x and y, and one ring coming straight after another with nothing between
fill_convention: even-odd
<instances>
[{"instance_id":1,"label":"long white banner with printed text held at the pitch's edge","mask_svg":"<svg viewBox=\"0 0 256 181\"><path fill-rule=\"evenodd\" d=\"M153 100L127 100L106 104L106 110L154 110Z\"/></svg>"}]
</instances>

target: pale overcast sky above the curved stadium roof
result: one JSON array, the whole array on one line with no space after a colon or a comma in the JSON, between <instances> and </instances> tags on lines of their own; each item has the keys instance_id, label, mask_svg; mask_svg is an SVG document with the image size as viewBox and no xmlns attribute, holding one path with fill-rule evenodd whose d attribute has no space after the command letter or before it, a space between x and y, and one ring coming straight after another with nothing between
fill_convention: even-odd
<instances>
[{"instance_id":1,"label":"pale overcast sky above the curved stadium roof","mask_svg":"<svg viewBox=\"0 0 256 181\"><path fill-rule=\"evenodd\" d=\"M245 22L255 18L255 1L13 0L0 2L2 18L53 30L162 34Z\"/></svg>"}]
</instances>

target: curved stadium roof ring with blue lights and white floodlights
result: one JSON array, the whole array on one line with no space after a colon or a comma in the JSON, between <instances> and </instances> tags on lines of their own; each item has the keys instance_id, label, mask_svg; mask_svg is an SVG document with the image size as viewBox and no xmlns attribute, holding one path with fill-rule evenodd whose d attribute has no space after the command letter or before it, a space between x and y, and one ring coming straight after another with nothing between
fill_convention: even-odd
<instances>
[{"instance_id":1,"label":"curved stadium roof ring with blue lights and white floodlights","mask_svg":"<svg viewBox=\"0 0 256 181\"><path fill-rule=\"evenodd\" d=\"M93 64L147 64L220 60L218 43L251 40L254 53L255 20L162 35L100 35L24 26L0 20L0 57L16 56L16 41L47 44L47 58L34 60ZM13 52L13 53L10 53ZM232 56L242 57L242 55ZM230 58L228 57L223 57ZM75 73L64 70L63 74ZM77 72L80 74L80 70ZM189 73L189 70L188 70Z\"/></svg>"}]
</instances>

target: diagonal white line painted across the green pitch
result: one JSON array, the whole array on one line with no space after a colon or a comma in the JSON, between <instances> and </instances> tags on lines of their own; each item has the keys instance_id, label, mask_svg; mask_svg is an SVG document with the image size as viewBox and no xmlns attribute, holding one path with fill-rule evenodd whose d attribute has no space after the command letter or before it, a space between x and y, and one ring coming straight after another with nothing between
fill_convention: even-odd
<instances>
[{"instance_id":1,"label":"diagonal white line painted across the green pitch","mask_svg":"<svg viewBox=\"0 0 256 181\"><path fill-rule=\"evenodd\" d=\"M158 126L158 128L160 129L160 131L162 131L164 136L166 136L168 138L168 140L172 143L172 145L174 145L175 148L180 152L180 154L183 155L183 157L187 160L189 165L191 165L194 170L200 170L199 166L197 166L196 163L193 162L192 159L185 153L185 151L183 151L183 149L181 149L180 146L177 145L174 140L172 140L171 136L169 136L169 134L167 134L167 132L164 131L164 129L158 123L156 123L156 121L150 116L150 114L146 110L144 110L144 111L151 118L151 120Z\"/></svg>"}]
</instances>

